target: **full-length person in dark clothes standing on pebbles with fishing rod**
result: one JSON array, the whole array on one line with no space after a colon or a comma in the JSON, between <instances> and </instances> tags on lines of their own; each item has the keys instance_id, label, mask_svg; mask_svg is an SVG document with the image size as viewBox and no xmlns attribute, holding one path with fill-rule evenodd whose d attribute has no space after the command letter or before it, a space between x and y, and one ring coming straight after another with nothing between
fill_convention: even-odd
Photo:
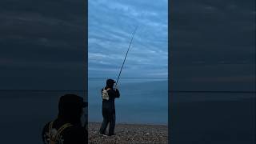
<instances>
[{"instance_id":1,"label":"full-length person in dark clothes standing on pebbles with fishing rod","mask_svg":"<svg viewBox=\"0 0 256 144\"><path fill-rule=\"evenodd\" d=\"M114 80L107 79L106 87L102 89L102 116L103 122L99 130L100 134L104 136L114 135L114 125L115 125L115 108L114 108L114 98L119 98L119 90L114 90ZM106 127L110 124L109 133L106 135Z\"/></svg>"}]
</instances>

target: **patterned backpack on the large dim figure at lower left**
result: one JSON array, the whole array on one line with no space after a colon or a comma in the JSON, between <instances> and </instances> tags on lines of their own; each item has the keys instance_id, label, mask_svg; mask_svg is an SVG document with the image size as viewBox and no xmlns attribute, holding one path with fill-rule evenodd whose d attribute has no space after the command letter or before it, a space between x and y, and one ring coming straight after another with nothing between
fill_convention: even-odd
<instances>
[{"instance_id":1,"label":"patterned backpack on the large dim figure at lower left","mask_svg":"<svg viewBox=\"0 0 256 144\"><path fill-rule=\"evenodd\" d=\"M54 121L50 122L49 130L46 132L46 144L63 144L62 131L67 127L72 126L70 123L66 123L61 126L58 130L53 128Z\"/></svg>"}]
</instances>

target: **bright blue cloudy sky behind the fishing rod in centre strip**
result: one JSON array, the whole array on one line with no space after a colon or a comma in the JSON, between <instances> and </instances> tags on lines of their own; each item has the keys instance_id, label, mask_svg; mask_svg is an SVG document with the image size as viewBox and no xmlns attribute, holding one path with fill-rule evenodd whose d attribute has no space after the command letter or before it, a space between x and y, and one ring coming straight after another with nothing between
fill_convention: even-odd
<instances>
[{"instance_id":1,"label":"bright blue cloudy sky behind the fishing rod in centre strip","mask_svg":"<svg viewBox=\"0 0 256 144\"><path fill-rule=\"evenodd\" d=\"M166 0L89 0L89 78L117 78L136 26L121 78L167 78Z\"/></svg>"}]
</instances>

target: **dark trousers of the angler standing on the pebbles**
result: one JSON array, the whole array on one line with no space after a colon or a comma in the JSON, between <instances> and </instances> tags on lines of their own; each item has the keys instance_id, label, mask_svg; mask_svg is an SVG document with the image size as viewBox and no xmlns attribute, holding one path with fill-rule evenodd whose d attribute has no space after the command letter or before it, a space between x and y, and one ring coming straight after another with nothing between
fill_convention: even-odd
<instances>
[{"instance_id":1,"label":"dark trousers of the angler standing on the pebbles","mask_svg":"<svg viewBox=\"0 0 256 144\"><path fill-rule=\"evenodd\" d=\"M103 122L100 129L101 134L106 133L106 127L110 124L109 135L114 134L114 125L115 125L115 110L102 109Z\"/></svg>"}]
</instances>

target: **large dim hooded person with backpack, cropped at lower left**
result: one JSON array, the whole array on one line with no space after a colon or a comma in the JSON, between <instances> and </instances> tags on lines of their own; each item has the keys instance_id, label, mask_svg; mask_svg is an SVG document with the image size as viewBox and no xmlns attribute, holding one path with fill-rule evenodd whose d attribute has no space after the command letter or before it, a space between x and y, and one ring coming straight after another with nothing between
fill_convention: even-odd
<instances>
[{"instance_id":1,"label":"large dim hooded person with backpack, cropped at lower left","mask_svg":"<svg viewBox=\"0 0 256 144\"><path fill-rule=\"evenodd\" d=\"M81 118L87 103L75 94L66 94L58 102L58 118L42 130L44 144L85 144L88 136Z\"/></svg>"}]
</instances>

